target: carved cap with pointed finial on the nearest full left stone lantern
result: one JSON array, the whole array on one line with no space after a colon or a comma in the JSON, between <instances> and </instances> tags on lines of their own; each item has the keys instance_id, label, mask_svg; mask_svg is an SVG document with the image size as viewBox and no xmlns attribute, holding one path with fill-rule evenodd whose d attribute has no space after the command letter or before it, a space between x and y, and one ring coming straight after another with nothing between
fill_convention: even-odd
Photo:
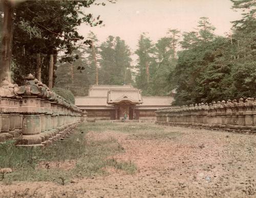
<instances>
[{"instance_id":1,"label":"carved cap with pointed finial on the nearest full left stone lantern","mask_svg":"<svg viewBox=\"0 0 256 198\"><path fill-rule=\"evenodd\" d=\"M39 96L41 92L39 86L34 81L34 76L30 73L25 79L27 80L25 85L20 86L18 90L15 90L15 94L21 96Z\"/></svg>"}]
</instances>

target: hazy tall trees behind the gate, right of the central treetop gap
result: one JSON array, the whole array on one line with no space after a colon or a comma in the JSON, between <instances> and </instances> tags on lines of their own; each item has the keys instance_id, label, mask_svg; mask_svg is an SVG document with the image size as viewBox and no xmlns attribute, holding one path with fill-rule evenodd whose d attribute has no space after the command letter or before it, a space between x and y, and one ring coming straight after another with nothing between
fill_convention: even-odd
<instances>
[{"instance_id":1,"label":"hazy tall trees behind the gate, right of the central treetop gap","mask_svg":"<svg viewBox=\"0 0 256 198\"><path fill-rule=\"evenodd\" d=\"M143 95L166 95L173 89L168 78L177 62L178 37L179 31L172 29L156 44L153 44L145 33L140 36L138 49L135 51L138 56L136 85Z\"/></svg>"}]
</instances>

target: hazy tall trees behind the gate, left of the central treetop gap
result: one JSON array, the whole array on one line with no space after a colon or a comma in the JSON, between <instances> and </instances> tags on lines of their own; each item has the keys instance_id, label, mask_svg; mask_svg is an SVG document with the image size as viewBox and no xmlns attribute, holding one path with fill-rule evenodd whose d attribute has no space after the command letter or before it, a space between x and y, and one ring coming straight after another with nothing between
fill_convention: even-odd
<instances>
[{"instance_id":1,"label":"hazy tall trees behind the gate, left of the central treetop gap","mask_svg":"<svg viewBox=\"0 0 256 198\"><path fill-rule=\"evenodd\" d=\"M98 45L97 36L93 32L90 32L87 38L89 40L80 44L72 52L69 61L62 59L58 63L56 87L69 89L76 96L86 96L88 94L90 85L96 82L92 42L99 70L99 84L132 84L131 52L124 40L109 36L105 42ZM72 57L79 58L71 59Z\"/></svg>"}]
</instances>

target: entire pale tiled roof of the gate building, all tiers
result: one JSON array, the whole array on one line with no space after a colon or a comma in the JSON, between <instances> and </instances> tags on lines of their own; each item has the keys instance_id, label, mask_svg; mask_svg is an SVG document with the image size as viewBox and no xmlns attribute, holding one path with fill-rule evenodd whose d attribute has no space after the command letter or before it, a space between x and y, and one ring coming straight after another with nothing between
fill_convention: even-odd
<instances>
[{"instance_id":1,"label":"entire pale tiled roof of the gate building, all tiers","mask_svg":"<svg viewBox=\"0 0 256 198\"><path fill-rule=\"evenodd\" d=\"M159 109L170 106L173 97L142 97L140 90L131 85L92 85L89 96L75 97L75 105L80 108L113 108L121 102L136 104L138 109Z\"/></svg>"}]
</instances>

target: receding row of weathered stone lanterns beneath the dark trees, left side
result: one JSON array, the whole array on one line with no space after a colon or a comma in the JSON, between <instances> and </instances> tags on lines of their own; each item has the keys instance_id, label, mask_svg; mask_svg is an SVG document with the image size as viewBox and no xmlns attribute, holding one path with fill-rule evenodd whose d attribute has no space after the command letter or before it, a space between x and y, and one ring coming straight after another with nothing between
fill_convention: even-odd
<instances>
[{"instance_id":1,"label":"receding row of weathered stone lanterns beneath the dark trees, left side","mask_svg":"<svg viewBox=\"0 0 256 198\"><path fill-rule=\"evenodd\" d=\"M65 137L81 120L80 109L31 74L23 86L1 84L0 142L16 139L17 146L47 145Z\"/></svg>"}]
</instances>

